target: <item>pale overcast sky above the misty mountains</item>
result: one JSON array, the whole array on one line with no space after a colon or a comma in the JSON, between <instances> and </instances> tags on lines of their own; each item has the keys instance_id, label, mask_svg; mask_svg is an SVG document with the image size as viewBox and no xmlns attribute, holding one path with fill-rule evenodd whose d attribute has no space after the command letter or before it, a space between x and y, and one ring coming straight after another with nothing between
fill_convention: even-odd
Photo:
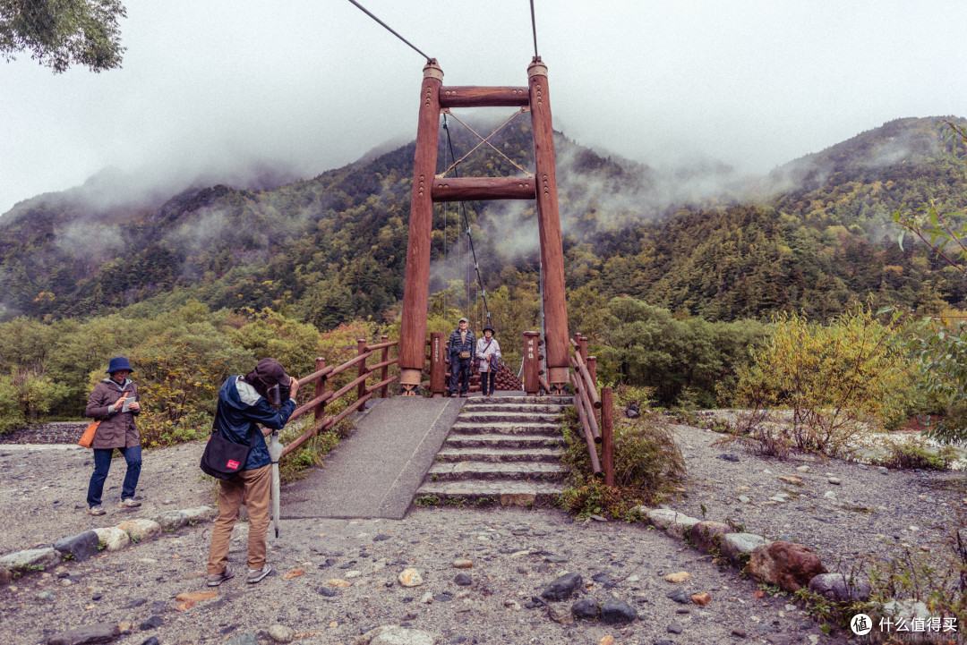
<instances>
[{"instance_id":1,"label":"pale overcast sky above the misty mountains","mask_svg":"<svg viewBox=\"0 0 967 645\"><path fill-rule=\"evenodd\" d=\"M126 4L122 70L0 61L0 213L110 166L312 177L416 135L424 59L346 0ZM527 0L362 4L445 85L527 84ZM964 0L535 6L555 128L652 165L768 171L892 119L967 116Z\"/></svg>"}]
</instances>

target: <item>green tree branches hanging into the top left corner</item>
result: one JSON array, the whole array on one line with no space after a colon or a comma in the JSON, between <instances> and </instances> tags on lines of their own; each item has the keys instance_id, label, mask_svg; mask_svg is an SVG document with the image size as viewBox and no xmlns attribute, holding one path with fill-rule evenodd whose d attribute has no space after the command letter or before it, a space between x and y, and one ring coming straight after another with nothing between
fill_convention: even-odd
<instances>
[{"instance_id":1,"label":"green tree branches hanging into the top left corner","mask_svg":"<svg viewBox=\"0 0 967 645\"><path fill-rule=\"evenodd\" d=\"M0 0L0 53L21 51L61 73L72 65L91 71L121 67L120 0Z\"/></svg>"}]
</instances>

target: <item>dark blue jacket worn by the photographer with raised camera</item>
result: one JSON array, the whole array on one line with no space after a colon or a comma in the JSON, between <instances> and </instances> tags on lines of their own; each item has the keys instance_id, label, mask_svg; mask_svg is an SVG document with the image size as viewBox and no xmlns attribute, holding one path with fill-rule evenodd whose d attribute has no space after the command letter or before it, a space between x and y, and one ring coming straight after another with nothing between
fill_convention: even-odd
<instances>
[{"instance_id":1,"label":"dark blue jacket worn by the photographer with raised camera","mask_svg":"<svg viewBox=\"0 0 967 645\"><path fill-rule=\"evenodd\" d=\"M251 441L249 433L255 433L255 445L249 451L242 470L253 470L269 465L269 447L257 424L281 430L295 411L296 402L289 399L278 408L269 405L265 397L255 391L242 377L228 377L219 390L219 405L215 409L214 430L235 443L246 445Z\"/></svg>"}]
</instances>

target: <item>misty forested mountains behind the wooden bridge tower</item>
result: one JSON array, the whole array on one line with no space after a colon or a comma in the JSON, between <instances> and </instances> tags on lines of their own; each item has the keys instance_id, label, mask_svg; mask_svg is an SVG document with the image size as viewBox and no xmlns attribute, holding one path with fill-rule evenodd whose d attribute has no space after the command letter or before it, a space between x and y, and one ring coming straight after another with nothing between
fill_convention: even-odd
<instances>
[{"instance_id":1,"label":"misty forested mountains behind the wooden bridge tower","mask_svg":"<svg viewBox=\"0 0 967 645\"><path fill-rule=\"evenodd\" d=\"M476 145L451 122L439 172L450 165L448 132L457 156ZM514 122L492 141L532 167L529 124ZM967 204L963 162L938 119L890 122L759 180L715 166L661 172L563 134L556 146L568 287L585 299L625 294L720 321L791 309L826 318L867 294L922 311L967 308L959 274L923 245L901 251L891 241L904 204ZM214 185L132 203L105 201L92 185L21 202L0 217L2 318L87 317L143 300L161 311L177 293L213 310L285 307L321 329L393 320L413 153L406 145L274 189ZM483 149L457 170L519 173ZM470 203L465 215L487 291L506 287L509 302L536 302L533 207ZM455 206L437 207L434 229L431 293L452 288L465 299L454 288L467 275ZM581 311L572 316L586 327Z\"/></svg>"}]
</instances>

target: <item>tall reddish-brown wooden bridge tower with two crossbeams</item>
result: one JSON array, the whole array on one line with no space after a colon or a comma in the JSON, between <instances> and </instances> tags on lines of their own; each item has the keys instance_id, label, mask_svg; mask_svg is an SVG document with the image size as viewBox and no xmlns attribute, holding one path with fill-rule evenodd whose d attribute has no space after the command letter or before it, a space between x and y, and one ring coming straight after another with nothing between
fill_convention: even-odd
<instances>
[{"instance_id":1,"label":"tall reddish-brown wooden bridge tower with two crossbeams","mask_svg":"<svg viewBox=\"0 0 967 645\"><path fill-rule=\"evenodd\" d=\"M547 67L540 56L535 56L531 61L527 76L527 87L444 87L443 70L436 60L430 60L424 67L399 334L399 381L405 393L413 393L423 377L430 236L433 204L436 202L537 200L543 268L546 378L552 389L563 389L569 380L568 311L564 293L564 248L557 202L554 134L551 129ZM522 111L529 111L534 135L534 175L520 178L437 177L440 112L454 107L519 107Z\"/></svg>"}]
</instances>

